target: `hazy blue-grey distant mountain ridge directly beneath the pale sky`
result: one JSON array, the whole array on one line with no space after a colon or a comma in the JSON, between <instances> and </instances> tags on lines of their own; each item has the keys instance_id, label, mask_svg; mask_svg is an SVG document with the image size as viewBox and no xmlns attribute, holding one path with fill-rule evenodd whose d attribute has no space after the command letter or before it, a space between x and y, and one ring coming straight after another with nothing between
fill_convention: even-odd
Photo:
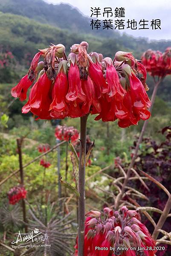
<instances>
[{"instance_id":1,"label":"hazy blue-grey distant mountain ridge directly beneath the pale sky","mask_svg":"<svg viewBox=\"0 0 171 256\"><path fill-rule=\"evenodd\" d=\"M96 37L96 41L106 40L107 47L112 44L112 40L113 44L115 44L112 49L116 49L116 44L118 44L118 46L123 46L135 53L142 53L148 48L164 51L166 47L171 46L171 41L149 42L146 38L134 38L125 33L120 35L119 32L113 30L92 30L90 18L82 15L78 9L66 3L53 5L43 0L3 0L0 2L0 12L28 17L42 24L49 24L62 30L65 29L65 33L68 30L70 34L78 34L78 37L79 35L89 34Z\"/></svg>"}]
</instances>

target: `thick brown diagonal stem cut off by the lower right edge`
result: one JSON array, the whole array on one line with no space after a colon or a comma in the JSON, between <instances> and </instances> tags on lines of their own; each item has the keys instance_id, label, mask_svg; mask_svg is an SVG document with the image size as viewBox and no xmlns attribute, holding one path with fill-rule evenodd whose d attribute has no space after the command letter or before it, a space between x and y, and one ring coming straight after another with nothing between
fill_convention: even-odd
<instances>
[{"instance_id":1,"label":"thick brown diagonal stem cut off by the lower right edge","mask_svg":"<svg viewBox=\"0 0 171 256\"><path fill-rule=\"evenodd\" d=\"M154 229L152 237L155 240L157 239L157 237L159 235L159 231L158 230L162 229L162 226L165 223L165 220L168 217L168 214L169 214L170 210L171 210L171 195L169 196L168 201L167 201L167 203L165 205L165 208L164 208L164 210L163 210L163 212L162 212L162 214L161 214L161 216L159 218L159 221L158 221L158 223L157 223L157 225L156 225L156 227Z\"/></svg>"}]
</instances>

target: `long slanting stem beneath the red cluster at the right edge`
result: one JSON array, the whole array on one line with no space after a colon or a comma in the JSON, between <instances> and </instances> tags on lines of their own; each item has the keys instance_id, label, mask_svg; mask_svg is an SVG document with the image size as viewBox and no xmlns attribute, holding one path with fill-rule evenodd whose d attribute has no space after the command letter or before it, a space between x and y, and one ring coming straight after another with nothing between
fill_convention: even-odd
<instances>
[{"instance_id":1,"label":"long slanting stem beneath the red cluster at the right edge","mask_svg":"<svg viewBox=\"0 0 171 256\"><path fill-rule=\"evenodd\" d=\"M157 89L158 89L158 86L159 86L161 81L162 81L162 78L160 78L159 81L157 81L157 82L155 82L155 80L154 80L154 90L153 90L153 93L152 93L152 96L151 96L151 107L149 108L150 112L152 111L152 108L153 108L153 105L154 105L154 101L155 101L155 98L156 98L156 94L157 94ZM128 183L129 177L130 177L130 173L131 173L131 169L134 166L134 163L135 163L135 160L136 160L136 157L137 157L137 154L138 154L138 150L139 150L139 145L142 143L143 135L145 133L147 125L148 125L148 120L145 120L145 122L144 122L144 124L142 126L141 133L139 135L138 142L136 143L135 152L133 154L133 157L131 159L130 165L128 167L127 176L125 177L121 193L119 193L119 195L117 197L117 200L115 201L115 209L116 210L118 210L120 201L122 200L122 197L123 197L123 195L125 193L125 187L127 186L127 183Z\"/></svg>"}]
</instances>

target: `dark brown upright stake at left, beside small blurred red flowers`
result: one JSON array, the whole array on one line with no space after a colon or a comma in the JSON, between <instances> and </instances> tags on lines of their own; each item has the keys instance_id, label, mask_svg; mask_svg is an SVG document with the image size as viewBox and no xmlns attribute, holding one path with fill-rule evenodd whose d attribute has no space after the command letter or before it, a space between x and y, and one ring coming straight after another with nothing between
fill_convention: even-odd
<instances>
[{"instance_id":1,"label":"dark brown upright stake at left, beside small blurred red flowers","mask_svg":"<svg viewBox=\"0 0 171 256\"><path fill-rule=\"evenodd\" d=\"M18 155L19 155L19 164L20 164L20 179L21 179L21 185L24 186L24 173L23 173L23 161L22 161L22 139L17 139L17 149L18 149ZM26 204L24 199L22 199L22 208L23 208L23 221L27 223L26 219ZM25 225L25 233L27 233L27 226Z\"/></svg>"}]
</instances>

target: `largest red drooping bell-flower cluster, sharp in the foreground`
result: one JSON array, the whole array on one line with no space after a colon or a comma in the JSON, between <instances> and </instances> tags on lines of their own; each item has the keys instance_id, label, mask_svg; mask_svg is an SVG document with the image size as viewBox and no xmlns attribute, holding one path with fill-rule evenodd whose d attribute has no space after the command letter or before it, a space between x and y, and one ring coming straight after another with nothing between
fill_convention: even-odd
<instances>
[{"instance_id":1,"label":"largest red drooping bell-flower cluster, sharp in the foreground","mask_svg":"<svg viewBox=\"0 0 171 256\"><path fill-rule=\"evenodd\" d=\"M74 44L68 58L62 44L40 50L28 74L12 88L12 96L25 100L37 79L22 113L31 111L37 119L99 114L95 120L118 119L122 128L148 119L145 67L130 52L117 52L112 61L96 52L87 54L87 49L87 42ZM44 61L38 63L41 56Z\"/></svg>"}]
</instances>

